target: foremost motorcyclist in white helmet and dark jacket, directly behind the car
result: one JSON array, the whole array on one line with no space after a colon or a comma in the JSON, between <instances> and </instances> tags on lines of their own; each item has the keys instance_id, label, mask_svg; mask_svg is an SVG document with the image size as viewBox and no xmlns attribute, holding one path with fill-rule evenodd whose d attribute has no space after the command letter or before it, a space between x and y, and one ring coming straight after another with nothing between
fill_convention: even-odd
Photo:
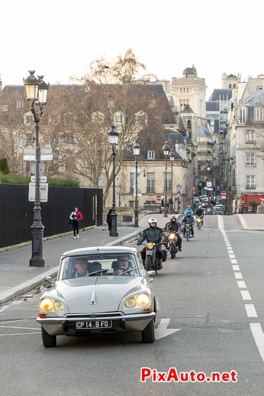
<instances>
[{"instance_id":1,"label":"foremost motorcyclist in white helmet and dark jacket, directly behind the car","mask_svg":"<svg viewBox=\"0 0 264 396\"><path fill-rule=\"evenodd\" d=\"M163 260L163 254L165 255L165 260L166 261L166 256L167 256L167 250L163 250L161 248L162 243L165 245L166 244L166 239L165 235L162 232L162 229L157 227L157 220L154 217L151 217L148 221L149 227L145 228L143 231L142 235L139 237L137 245L140 246L145 239L148 242L153 242L155 244L155 247L157 248L157 253L158 253L158 258L161 258L161 262ZM142 260L145 262L146 260L146 250L147 247L143 247L141 250L141 257ZM159 261L160 262L160 261ZM162 268L162 264L159 264L158 269Z\"/></svg>"}]
</instances>

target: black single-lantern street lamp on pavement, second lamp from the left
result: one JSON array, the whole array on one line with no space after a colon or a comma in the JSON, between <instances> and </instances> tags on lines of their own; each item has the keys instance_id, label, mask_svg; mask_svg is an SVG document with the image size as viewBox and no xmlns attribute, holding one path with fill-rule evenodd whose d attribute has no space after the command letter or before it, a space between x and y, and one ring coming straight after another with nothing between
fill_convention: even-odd
<instances>
[{"instance_id":1,"label":"black single-lantern street lamp on pavement, second lamp from the left","mask_svg":"<svg viewBox=\"0 0 264 396\"><path fill-rule=\"evenodd\" d=\"M118 136L119 133L116 132L115 127L111 126L111 129L108 131L108 139L112 148L112 157L113 157L113 202L112 202L112 213L111 213L111 229L109 232L110 237L118 237L117 232L117 213L115 210L115 155L116 155L116 146L118 145Z\"/></svg>"}]
</instances>

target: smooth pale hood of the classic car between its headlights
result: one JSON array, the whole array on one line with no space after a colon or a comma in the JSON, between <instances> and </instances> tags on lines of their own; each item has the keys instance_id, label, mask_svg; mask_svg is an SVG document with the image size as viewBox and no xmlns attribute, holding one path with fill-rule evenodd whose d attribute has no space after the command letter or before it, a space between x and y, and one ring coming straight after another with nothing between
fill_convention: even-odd
<instances>
[{"instance_id":1,"label":"smooth pale hood of the classic car between its headlights","mask_svg":"<svg viewBox=\"0 0 264 396\"><path fill-rule=\"evenodd\" d=\"M115 312L122 298L142 285L141 279L131 276L67 279L56 282L55 289L65 299L69 313Z\"/></svg>"}]
</instances>

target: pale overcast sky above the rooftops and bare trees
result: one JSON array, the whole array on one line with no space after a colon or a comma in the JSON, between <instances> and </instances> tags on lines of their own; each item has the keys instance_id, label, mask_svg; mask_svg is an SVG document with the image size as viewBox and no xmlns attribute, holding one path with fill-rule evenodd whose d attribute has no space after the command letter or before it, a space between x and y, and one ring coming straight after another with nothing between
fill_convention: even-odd
<instances>
[{"instance_id":1,"label":"pale overcast sky above the rooftops and bare trees","mask_svg":"<svg viewBox=\"0 0 264 396\"><path fill-rule=\"evenodd\" d=\"M23 84L28 69L67 83L131 48L159 79L194 64L208 98L222 72L264 74L263 15L261 0L4 0L0 74L3 85Z\"/></svg>"}]
</instances>

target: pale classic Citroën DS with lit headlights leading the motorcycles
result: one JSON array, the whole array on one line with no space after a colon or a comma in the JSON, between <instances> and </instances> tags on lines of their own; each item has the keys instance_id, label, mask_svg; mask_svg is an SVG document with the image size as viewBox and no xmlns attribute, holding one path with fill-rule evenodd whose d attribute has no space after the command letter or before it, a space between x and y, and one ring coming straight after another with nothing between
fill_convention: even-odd
<instances>
[{"instance_id":1,"label":"pale classic Citro\u00ebn DS with lit headlights leading the motorcycles","mask_svg":"<svg viewBox=\"0 0 264 396\"><path fill-rule=\"evenodd\" d=\"M39 301L44 347L56 336L90 336L141 332L143 343L155 341L158 300L151 275L134 247L87 247L62 254L57 279Z\"/></svg>"}]
</instances>

